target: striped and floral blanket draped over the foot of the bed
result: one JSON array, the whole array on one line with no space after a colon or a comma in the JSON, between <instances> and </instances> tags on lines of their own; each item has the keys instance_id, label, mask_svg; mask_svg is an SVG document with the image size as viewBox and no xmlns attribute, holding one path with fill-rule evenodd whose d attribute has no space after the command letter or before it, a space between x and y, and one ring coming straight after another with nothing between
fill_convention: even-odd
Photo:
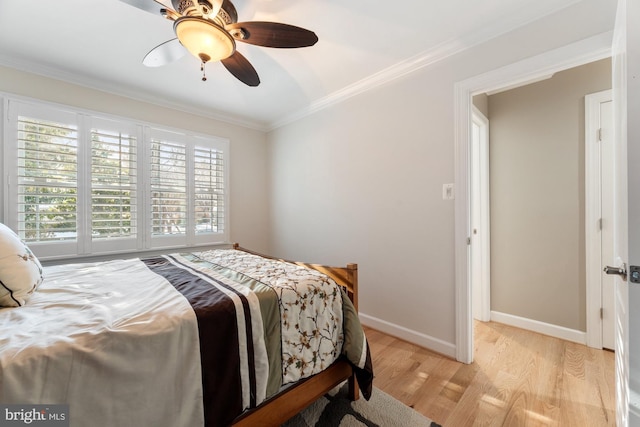
<instances>
[{"instance_id":1,"label":"striped and floral blanket draped over the foot of the bed","mask_svg":"<svg viewBox=\"0 0 640 427\"><path fill-rule=\"evenodd\" d=\"M143 261L174 284L196 312L207 425L229 421L228 414L219 418L223 408L234 408L226 412L239 415L238 405L241 410L255 407L283 385L319 373L341 355L359 374L364 397L370 396L373 373L364 331L353 304L328 276L232 249ZM214 305L223 308L214 311ZM233 316L222 317L220 311ZM221 326L229 322L237 328ZM228 329L233 329L231 335ZM224 359L219 356L223 349ZM237 381L228 376L236 371ZM239 390L232 386L235 382L241 384ZM221 395L237 398L229 401Z\"/></svg>"}]
</instances>

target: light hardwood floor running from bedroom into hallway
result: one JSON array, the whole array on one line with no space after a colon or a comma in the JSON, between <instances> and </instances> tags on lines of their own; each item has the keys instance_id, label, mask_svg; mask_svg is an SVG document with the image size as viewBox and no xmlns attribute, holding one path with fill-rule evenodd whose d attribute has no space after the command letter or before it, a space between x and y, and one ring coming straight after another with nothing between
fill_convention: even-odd
<instances>
[{"instance_id":1,"label":"light hardwood floor running from bedroom into hallway","mask_svg":"<svg viewBox=\"0 0 640 427\"><path fill-rule=\"evenodd\" d=\"M365 328L375 387L443 426L614 426L614 353L494 322L456 362Z\"/></svg>"}]
</instances>

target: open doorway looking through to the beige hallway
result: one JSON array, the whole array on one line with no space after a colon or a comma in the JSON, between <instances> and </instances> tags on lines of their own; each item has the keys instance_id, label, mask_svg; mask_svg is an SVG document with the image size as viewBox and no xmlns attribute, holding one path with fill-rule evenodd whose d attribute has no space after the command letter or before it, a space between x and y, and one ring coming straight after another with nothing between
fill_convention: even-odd
<instances>
[{"instance_id":1,"label":"open doorway looking through to the beige hallway","mask_svg":"<svg viewBox=\"0 0 640 427\"><path fill-rule=\"evenodd\" d=\"M609 237L603 245L612 250L611 233L607 233L611 228L612 191L585 191L584 178L589 178L592 172L592 167L585 168L584 158L591 160L591 150L601 147L602 161L600 151L597 162L590 161L596 169L593 173L611 179L612 166L609 171L600 171L600 167L611 160L611 154L607 155L605 150L609 148L610 153L612 148L611 102L602 103L602 107L597 104L597 109L594 106L597 115L583 112L583 108L590 107L590 98L585 97L585 93L594 88L610 88L610 81L611 62L606 59L559 71L542 81L474 97L474 104L486 110L492 120L490 227L493 246L491 291L477 291L485 287L484 268L480 263L488 253L482 246L484 233L479 231L489 228L488 220L486 227L481 224L484 212L478 200L488 193L485 188L489 184L483 182L483 176L489 173L483 173L483 168L478 166L482 158L478 136L482 121L481 114L474 110L470 147L470 280L475 319L490 317L511 326L585 344L589 318L597 317L599 321L604 314L602 323L610 326L608 332L613 331L612 293L602 294L611 298L593 300L594 304L609 302L609 306L587 309L586 276L592 266L584 255L585 229L592 231L595 221L592 218L585 221L585 206L590 203L597 206L598 222L604 225L597 237ZM601 118L601 110L603 114L608 112L606 117ZM588 122L591 115L596 116L593 124ZM596 136L597 131L602 141L590 138ZM484 163L488 168L488 162ZM589 186L586 187L588 190ZM611 264L611 256L606 252L603 255ZM598 260L593 268L606 285L611 278L602 277L604 265L607 264ZM478 269L480 273L476 273ZM600 286L600 282L592 284ZM479 316L483 296L489 293L491 315ZM601 311L601 307L606 309ZM602 333L602 327L599 331ZM607 336L613 346L612 334Z\"/></svg>"}]
</instances>

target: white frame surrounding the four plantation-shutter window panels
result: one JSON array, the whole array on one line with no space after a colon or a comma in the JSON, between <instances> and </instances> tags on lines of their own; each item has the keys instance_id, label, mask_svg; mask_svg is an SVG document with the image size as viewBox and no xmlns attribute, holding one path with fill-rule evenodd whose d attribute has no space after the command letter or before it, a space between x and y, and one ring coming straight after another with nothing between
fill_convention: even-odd
<instances>
[{"instance_id":1,"label":"white frame surrounding the four plantation-shutter window panels","mask_svg":"<svg viewBox=\"0 0 640 427\"><path fill-rule=\"evenodd\" d=\"M0 200L4 205L0 215L2 222L12 229L18 226L17 171L15 159L18 155L17 118L29 116L37 120L50 118L71 119L78 127L78 174L77 174L77 225L78 236L74 241L28 242L29 247L42 260L126 254L141 251L164 251L195 248L229 243L229 147L226 138L172 128L155 123L118 117L110 114L88 111L45 101L8 96L0 93L0 135L3 143L0 149ZM66 122L65 122L66 123ZM109 125L113 124L113 128ZM136 138L136 226L135 237L112 237L93 239L91 236L91 167L92 130L106 127L110 131L121 130ZM153 236L151 227L151 181L150 150L153 137L170 137L184 144L187 156L187 230L181 235ZM195 147L206 147L222 153L222 231L200 232L195 229Z\"/></svg>"}]
</instances>

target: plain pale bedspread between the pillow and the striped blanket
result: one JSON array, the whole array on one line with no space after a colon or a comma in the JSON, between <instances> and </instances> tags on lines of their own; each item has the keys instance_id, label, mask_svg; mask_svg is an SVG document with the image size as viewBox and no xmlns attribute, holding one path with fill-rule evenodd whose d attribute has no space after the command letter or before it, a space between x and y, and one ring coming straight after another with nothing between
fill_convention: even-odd
<instances>
[{"instance_id":1,"label":"plain pale bedspread between the pillow and the striped blanket","mask_svg":"<svg viewBox=\"0 0 640 427\"><path fill-rule=\"evenodd\" d=\"M45 268L0 309L0 402L67 403L72 427L204 425L187 300L139 260Z\"/></svg>"}]
</instances>

